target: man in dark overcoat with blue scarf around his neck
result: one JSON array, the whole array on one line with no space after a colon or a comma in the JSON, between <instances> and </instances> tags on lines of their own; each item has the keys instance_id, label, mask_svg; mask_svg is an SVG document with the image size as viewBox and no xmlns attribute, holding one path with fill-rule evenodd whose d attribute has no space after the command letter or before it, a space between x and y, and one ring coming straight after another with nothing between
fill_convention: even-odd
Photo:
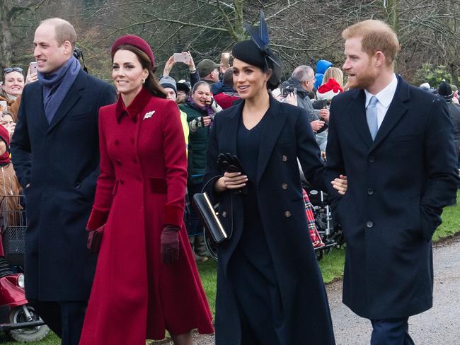
<instances>
[{"instance_id":1,"label":"man in dark overcoat with blue scarf around his neck","mask_svg":"<svg viewBox=\"0 0 460 345\"><path fill-rule=\"evenodd\" d=\"M74 28L59 18L35 31L38 82L23 90L11 156L28 215L25 293L62 344L78 344L96 256L86 222L98 176L98 110L112 86L81 70Z\"/></svg>"}]
</instances>

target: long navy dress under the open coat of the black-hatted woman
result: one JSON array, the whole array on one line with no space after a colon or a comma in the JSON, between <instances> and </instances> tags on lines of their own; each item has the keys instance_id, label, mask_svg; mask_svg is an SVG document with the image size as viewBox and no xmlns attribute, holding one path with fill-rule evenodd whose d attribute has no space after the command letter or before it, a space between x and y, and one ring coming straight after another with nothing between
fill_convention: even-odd
<instances>
[{"instance_id":1,"label":"long navy dress under the open coat of the black-hatted woman","mask_svg":"<svg viewBox=\"0 0 460 345\"><path fill-rule=\"evenodd\" d=\"M243 199L243 233L229 262L229 279L234 288L241 320L243 345L280 344L275 328L282 323L282 303L275 269L257 199L257 163L266 117L251 130L243 119L238 125L238 159L248 176L248 193ZM244 279L241 279L244 277Z\"/></svg>"}]
</instances>

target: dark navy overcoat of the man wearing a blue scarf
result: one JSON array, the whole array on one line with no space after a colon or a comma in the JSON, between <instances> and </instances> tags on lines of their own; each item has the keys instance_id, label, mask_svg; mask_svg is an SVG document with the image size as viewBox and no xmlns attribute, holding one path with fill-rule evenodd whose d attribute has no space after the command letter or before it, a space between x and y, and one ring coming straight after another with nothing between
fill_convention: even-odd
<instances>
[{"instance_id":1,"label":"dark navy overcoat of the man wearing a blue scarf","mask_svg":"<svg viewBox=\"0 0 460 345\"><path fill-rule=\"evenodd\" d=\"M11 158L26 199L28 298L89 297L96 256L85 226L98 176L98 110L114 102L112 86L80 71L48 124L42 85L23 90Z\"/></svg>"}]
</instances>

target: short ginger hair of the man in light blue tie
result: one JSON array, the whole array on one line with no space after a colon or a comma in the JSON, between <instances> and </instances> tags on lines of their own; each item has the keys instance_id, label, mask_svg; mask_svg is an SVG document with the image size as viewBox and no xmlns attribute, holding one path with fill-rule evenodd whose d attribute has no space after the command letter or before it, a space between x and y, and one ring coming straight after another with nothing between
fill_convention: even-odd
<instances>
[{"instance_id":1,"label":"short ginger hair of the man in light blue tie","mask_svg":"<svg viewBox=\"0 0 460 345\"><path fill-rule=\"evenodd\" d=\"M342 37L345 40L361 37L362 50L368 55L379 51L384 53L387 66L393 64L400 49L398 37L393 29L383 21L374 19L349 26L342 31Z\"/></svg>"}]
</instances>

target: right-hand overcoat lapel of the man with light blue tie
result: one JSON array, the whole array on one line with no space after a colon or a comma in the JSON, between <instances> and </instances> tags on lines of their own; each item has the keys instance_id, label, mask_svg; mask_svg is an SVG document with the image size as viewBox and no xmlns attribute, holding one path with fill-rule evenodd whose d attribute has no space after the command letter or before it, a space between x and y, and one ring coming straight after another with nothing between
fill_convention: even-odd
<instances>
[{"instance_id":1,"label":"right-hand overcoat lapel of the man with light blue tie","mask_svg":"<svg viewBox=\"0 0 460 345\"><path fill-rule=\"evenodd\" d=\"M372 143L371 150L374 150L381 141L390 133L396 124L399 122L401 117L406 114L408 107L404 104L406 100L409 99L409 85L406 81L403 81L403 78L398 77L398 87L396 88L396 93L393 96L393 100L390 103L388 111L384 117L384 121L381 123L379 131L375 137L374 142Z\"/></svg>"}]
</instances>

